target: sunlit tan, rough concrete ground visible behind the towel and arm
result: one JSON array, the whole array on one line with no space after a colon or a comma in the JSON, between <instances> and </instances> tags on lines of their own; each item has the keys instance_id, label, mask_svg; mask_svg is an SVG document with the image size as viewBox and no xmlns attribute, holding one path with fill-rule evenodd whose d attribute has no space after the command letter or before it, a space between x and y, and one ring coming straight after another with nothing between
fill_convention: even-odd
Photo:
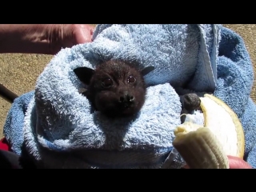
<instances>
[{"instance_id":1,"label":"sunlit tan, rough concrete ground visible behind the towel and arm","mask_svg":"<svg viewBox=\"0 0 256 192\"><path fill-rule=\"evenodd\" d=\"M256 70L256 25L234 24L223 25L242 36ZM53 56L42 54L0 54L0 83L16 94L21 95L34 90L38 75ZM254 85L251 97L256 102L256 86ZM0 138L6 114L10 110L10 103L0 98Z\"/></svg>"}]
</instances>

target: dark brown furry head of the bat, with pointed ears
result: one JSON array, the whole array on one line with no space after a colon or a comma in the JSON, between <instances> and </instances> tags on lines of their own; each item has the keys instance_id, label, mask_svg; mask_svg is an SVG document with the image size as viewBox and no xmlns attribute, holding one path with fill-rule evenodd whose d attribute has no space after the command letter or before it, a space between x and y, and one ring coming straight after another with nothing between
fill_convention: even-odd
<instances>
[{"instance_id":1,"label":"dark brown furry head of the bat, with pointed ears","mask_svg":"<svg viewBox=\"0 0 256 192\"><path fill-rule=\"evenodd\" d=\"M127 117L142 108L146 95L143 76L152 70L153 66L137 70L129 63L110 60L95 70L79 67L74 73L88 85L85 95L96 110L109 117Z\"/></svg>"}]
</instances>

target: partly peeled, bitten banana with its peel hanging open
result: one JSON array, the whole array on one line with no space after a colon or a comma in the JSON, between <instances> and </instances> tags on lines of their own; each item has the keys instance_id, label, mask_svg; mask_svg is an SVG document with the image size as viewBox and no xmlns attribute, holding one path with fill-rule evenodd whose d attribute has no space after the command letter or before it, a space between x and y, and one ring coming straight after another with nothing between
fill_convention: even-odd
<instances>
[{"instance_id":1,"label":"partly peeled, bitten banana with its peel hanging open","mask_svg":"<svg viewBox=\"0 0 256 192\"><path fill-rule=\"evenodd\" d=\"M238 116L211 94L200 98L204 125L184 122L173 145L190 168L228 169L227 155L243 158L245 138Z\"/></svg>"}]
</instances>

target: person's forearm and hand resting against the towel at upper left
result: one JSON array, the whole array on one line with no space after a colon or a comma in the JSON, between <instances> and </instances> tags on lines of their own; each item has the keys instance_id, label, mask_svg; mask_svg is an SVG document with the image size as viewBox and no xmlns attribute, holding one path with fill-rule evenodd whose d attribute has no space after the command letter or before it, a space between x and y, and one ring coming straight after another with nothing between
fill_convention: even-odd
<instances>
[{"instance_id":1,"label":"person's forearm and hand resting against the towel at upper left","mask_svg":"<svg viewBox=\"0 0 256 192\"><path fill-rule=\"evenodd\" d=\"M0 24L0 53L57 54L92 41L89 24Z\"/></svg>"}]
</instances>

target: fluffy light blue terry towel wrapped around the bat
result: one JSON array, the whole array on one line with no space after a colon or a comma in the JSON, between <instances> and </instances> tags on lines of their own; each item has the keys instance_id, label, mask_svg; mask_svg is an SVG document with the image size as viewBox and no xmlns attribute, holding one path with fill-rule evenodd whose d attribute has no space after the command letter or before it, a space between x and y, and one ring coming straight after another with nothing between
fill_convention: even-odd
<instances>
[{"instance_id":1,"label":"fluffy light blue terry towel wrapped around the bat","mask_svg":"<svg viewBox=\"0 0 256 192\"><path fill-rule=\"evenodd\" d=\"M254 162L253 68L242 38L220 25L98 25L94 41L61 50L35 90L14 101L4 134L12 150L46 168L179 168L172 141L180 122L178 89L212 92L238 114L245 160ZM73 70L109 59L155 66L136 118L110 121L92 112ZM175 88L175 89L174 89ZM254 152L255 151L255 152Z\"/></svg>"}]
</instances>

